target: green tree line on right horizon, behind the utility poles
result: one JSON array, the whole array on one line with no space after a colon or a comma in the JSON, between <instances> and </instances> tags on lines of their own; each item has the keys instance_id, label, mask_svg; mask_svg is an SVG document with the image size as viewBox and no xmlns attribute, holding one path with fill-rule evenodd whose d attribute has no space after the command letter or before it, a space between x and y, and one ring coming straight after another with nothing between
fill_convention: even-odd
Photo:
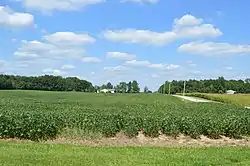
<instances>
[{"instance_id":1,"label":"green tree line on right horizon, behind the utility poles","mask_svg":"<svg viewBox=\"0 0 250 166\"><path fill-rule=\"evenodd\" d=\"M237 93L250 93L250 78L244 80L226 80L224 77L205 80L185 81L185 92L193 93L225 93L227 90L234 90ZM158 89L159 93L182 93L184 81L166 81Z\"/></svg>"}]
</instances>

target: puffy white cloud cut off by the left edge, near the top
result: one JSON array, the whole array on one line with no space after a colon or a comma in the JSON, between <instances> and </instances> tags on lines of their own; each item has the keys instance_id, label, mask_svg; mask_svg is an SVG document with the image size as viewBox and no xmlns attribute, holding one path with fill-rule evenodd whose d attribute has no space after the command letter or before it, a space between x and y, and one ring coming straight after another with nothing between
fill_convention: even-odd
<instances>
[{"instance_id":1,"label":"puffy white cloud cut off by the left edge, near the top","mask_svg":"<svg viewBox=\"0 0 250 166\"><path fill-rule=\"evenodd\" d=\"M0 6L0 25L21 28L31 26L33 23L33 15L14 12L9 7Z\"/></svg>"}]
</instances>

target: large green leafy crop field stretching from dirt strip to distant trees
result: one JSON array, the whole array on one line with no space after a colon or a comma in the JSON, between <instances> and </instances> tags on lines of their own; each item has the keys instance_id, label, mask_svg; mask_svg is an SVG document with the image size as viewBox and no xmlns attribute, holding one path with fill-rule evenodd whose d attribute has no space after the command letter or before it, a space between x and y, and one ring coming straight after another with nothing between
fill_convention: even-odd
<instances>
[{"instance_id":1,"label":"large green leafy crop field stretching from dirt strip to distant trees","mask_svg":"<svg viewBox=\"0 0 250 166\"><path fill-rule=\"evenodd\" d=\"M250 135L250 111L217 103L191 103L161 94L0 91L0 137L46 140L81 130L106 137L123 131L148 137L159 131L194 138Z\"/></svg>"}]
</instances>

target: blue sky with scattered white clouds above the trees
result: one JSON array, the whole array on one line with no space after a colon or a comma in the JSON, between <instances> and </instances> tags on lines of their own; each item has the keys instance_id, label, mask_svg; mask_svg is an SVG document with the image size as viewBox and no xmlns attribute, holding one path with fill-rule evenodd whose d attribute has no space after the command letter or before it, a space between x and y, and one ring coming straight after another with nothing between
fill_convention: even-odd
<instances>
[{"instance_id":1,"label":"blue sky with scattered white clouds above the trees","mask_svg":"<svg viewBox=\"0 0 250 166\"><path fill-rule=\"evenodd\" d=\"M0 73L93 84L250 77L250 1L1 0Z\"/></svg>"}]
</instances>

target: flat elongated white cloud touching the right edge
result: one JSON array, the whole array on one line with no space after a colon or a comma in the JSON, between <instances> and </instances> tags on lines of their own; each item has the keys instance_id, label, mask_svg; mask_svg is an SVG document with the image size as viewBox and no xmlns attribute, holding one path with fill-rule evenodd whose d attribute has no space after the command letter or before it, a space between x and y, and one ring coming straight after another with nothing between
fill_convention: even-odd
<instances>
[{"instance_id":1,"label":"flat elongated white cloud touching the right edge","mask_svg":"<svg viewBox=\"0 0 250 166\"><path fill-rule=\"evenodd\" d=\"M244 55L250 54L250 45L234 45L229 43L214 42L191 42L181 45L178 50L180 52L206 56Z\"/></svg>"}]
</instances>

